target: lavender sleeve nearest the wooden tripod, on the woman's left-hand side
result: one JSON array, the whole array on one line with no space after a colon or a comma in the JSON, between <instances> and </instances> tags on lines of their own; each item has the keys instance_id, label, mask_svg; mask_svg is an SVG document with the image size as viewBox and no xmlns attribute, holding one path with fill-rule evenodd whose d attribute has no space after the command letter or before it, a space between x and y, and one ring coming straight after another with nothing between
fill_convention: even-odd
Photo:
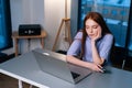
<instances>
[{"instance_id":1,"label":"lavender sleeve nearest the wooden tripod, on the woman's left-hand side","mask_svg":"<svg viewBox=\"0 0 132 88\"><path fill-rule=\"evenodd\" d=\"M82 33L78 32L74 38L74 42L72 43L69 50L67 51L67 55L74 55L77 56L80 53L81 48L81 36Z\"/></svg>"}]
</instances>

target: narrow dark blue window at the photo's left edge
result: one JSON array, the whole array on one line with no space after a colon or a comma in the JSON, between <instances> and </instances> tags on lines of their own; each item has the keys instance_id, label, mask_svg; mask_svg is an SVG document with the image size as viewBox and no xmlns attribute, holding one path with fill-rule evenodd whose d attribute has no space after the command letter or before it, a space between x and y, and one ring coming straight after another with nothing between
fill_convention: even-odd
<instances>
[{"instance_id":1,"label":"narrow dark blue window at the photo's left edge","mask_svg":"<svg viewBox=\"0 0 132 88\"><path fill-rule=\"evenodd\" d=\"M10 0L0 0L0 51L11 47Z\"/></svg>"}]
</instances>

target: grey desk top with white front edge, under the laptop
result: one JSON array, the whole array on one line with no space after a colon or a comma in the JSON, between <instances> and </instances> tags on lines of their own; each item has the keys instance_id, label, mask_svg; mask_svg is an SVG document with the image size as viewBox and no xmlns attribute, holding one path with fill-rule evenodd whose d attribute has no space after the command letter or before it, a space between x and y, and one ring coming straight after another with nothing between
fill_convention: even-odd
<instances>
[{"instance_id":1,"label":"grey desk top with white front edge, under the laptop","mask_svg":"<svg viewBox=\"0 0 132 88\"><path fill-rule=\"evenodd\" d=\"M42 72L32 52L0 64L0 73L41 88L131 88L132 73L109 67L111 73L94 73L77 85Z\"/></svg>"}]
</instances>

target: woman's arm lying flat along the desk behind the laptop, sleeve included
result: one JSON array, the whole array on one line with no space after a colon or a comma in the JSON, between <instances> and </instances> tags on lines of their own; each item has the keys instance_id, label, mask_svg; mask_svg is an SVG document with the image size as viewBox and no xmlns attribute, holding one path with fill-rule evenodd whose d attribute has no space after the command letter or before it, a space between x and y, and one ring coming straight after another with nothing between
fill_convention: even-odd
<instances>
[{"instance_id":1,"label":"woman's arm lying flat along the desk behind the laptop, sleeve included","mask_svg":"<svg viewBox=\"0 0 132 88\"><path fill-rule=\"evenodd\" d=\"M102 67L100 65L95 64L95 63L84 62L84 61L75 57L78 55L78 53L80 52L80 48L81 48L81 36L82 36L81 32L77 33L77 35L75 36L75 40L72 43L72 45L67 52L67 57L66 57L67 62L78 65L78 66L81 66L81 67L90 68L96 72L102 72L101 70Z\"/></svg>"}]
</instances>

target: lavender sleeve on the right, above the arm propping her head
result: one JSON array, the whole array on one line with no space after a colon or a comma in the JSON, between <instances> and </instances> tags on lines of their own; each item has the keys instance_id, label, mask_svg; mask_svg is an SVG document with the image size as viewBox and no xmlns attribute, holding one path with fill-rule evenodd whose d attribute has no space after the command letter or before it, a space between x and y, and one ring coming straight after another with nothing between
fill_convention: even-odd
<instances>
[{"instance_id":1,"label":"lavender sleeve on the right, above the arm propping her head","mask_svg":"<svg viewBox=\"0 0 132 88\"><path fill-rule=\"evenodd\" d=\"M108 61L109 55L110 55L110 50L112 47L112 43L113 43L113 35L108 34L103 37L103 43L100 47L100 57Z\"/></svg>"}]
</instances>

